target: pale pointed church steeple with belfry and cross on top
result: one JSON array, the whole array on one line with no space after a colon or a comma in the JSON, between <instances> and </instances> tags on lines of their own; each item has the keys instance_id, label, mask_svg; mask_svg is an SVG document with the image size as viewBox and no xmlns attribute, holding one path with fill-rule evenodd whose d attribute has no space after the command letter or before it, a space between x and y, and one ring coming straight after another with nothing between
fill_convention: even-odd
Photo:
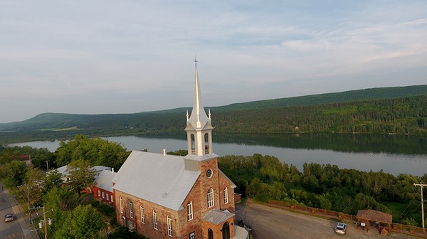
<instances>
[{"instance_id":1,"label":"pale pointed church steeple with belfry and cross on top","mask_svg":"<svg viewBox=\"0 0 427 239\"><path fill-rule=\"evenodd\" d=\"M197 73L197 60L195 63L195 76L194 76L194 102L193 110L191 111L190 117L188 112L186 114L186 128L187 142L189 155L204 156L205 154L212 153L212 127L210 110L209 117L204 111L203 104L201 102L201 92L199 85L199 76Z\"/></svg>"}]
</instances>

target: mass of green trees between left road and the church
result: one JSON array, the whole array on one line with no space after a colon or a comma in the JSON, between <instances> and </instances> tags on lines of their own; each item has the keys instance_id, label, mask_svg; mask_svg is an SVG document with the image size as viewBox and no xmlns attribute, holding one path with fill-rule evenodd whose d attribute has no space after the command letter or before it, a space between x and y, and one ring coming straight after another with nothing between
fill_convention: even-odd
<instances>
[{"instance_id":1,"label":"mass of green trees between left road and the church","mask_svg":"<svg viewBox=\"0 0 427 239\"><path fill-rule=\"evenodd\" d=\"M113 238L142 239L144 237L130 233L117 223L113 208L88 199L84 193L80 195L93 184L95 171L92 166L118 168L128 155L120 144L88 139L84 135L61 142L53 153L47 149L0 145L0 180L20 201L26 213L29 207L46 208L53 221L48 225L48 238L97 239L107 238L107 233L112 233ZM68 164L70 181L63 184L62 174L52 168L65 164ZM47 165L49 171L46 171ZM41 218L33 218L33 225L38 225ZM44 236L44 230L39 233Z\"/></svg>"}]
</instances>

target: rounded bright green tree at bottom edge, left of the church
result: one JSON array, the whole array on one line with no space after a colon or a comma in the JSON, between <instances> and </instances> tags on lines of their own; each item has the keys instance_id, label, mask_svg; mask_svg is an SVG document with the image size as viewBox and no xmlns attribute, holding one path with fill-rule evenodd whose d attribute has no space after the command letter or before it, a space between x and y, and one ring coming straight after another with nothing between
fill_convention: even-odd
<instances>
[{"instance_id":1,"label":"rounded bright green tree at bottom edge, left of the church","mask_svg":"<svg viewBox=\"0 0 427 239\"><path fill-rule=\"evenodd\" d=\"M68 213L62 226L56 231L55 237L70 238L97 238L102 226L100 214L90 205L77 206Z\"/></svg>"}]
</instances>

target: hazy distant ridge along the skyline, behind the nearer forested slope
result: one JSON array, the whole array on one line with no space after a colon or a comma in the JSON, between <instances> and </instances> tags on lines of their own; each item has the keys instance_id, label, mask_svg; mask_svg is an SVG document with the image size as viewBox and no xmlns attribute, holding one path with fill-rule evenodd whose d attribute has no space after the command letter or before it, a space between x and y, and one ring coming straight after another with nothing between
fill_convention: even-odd
<instances>
[{"instance_id":1,"label":"hazy distant ridge along the skyline, behind the nearer forested slope","mask_svg":"<svg viewBox=\"0 0 427 239\"><path fill-rule=\"evenodd\" d=\"M320 95L289 97L275 100L259 100L242 102L220 107L211 107L214 114L224 115L226 112L236 114L242 110L268 110L284 107L303 107L310 105L327 105L344 102L359 102L369 100L384 100L400 97L427 96L427 85L405 87L381 87L364 90L350 90ZM205 107L207 109L207 107ZM180 107L171 110L139 112L134 114L105 114L105 115L73 115L63 113L43 113L21 122L0 124L0 132L7 131L59 131L59 130L107 130L130 131L138 129L146 131L176 131L185 124L185 111L191 107ZM221 118L221 117L219 117ZM223 117L222 117L223 118ZM221 122L219 122L221 124Z\"/></svg>"}]
</instances>

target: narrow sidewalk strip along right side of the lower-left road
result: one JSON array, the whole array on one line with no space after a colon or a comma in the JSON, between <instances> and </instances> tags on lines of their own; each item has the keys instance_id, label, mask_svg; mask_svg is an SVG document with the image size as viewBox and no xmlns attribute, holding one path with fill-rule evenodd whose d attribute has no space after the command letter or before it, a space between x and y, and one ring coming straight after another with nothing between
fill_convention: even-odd
<instances>
[{"instance_id":1,"label":"narrow sidewalk strip along right side of the lower-left road","mask_svg":"<svg viewBox=\"0 0 427 239\"><path fill-rule=\"evenodd\" d=\"M0 182L0 188L4 188L3 184ZM31 231L31 224L30 224L30 216L28 214L23 213L23 208L21 205L16 201L16 198L14 196L11 196L9 194L9 191L7 188L4 188L4 193L7 194L9 203L11 203L12 211L14 212L16 216L16 221L18 221L19 225L21 226L21 230L23 233L23 237L26 239L39 239L38 234L36 231Z\"/></svg>"}]
</instances>

